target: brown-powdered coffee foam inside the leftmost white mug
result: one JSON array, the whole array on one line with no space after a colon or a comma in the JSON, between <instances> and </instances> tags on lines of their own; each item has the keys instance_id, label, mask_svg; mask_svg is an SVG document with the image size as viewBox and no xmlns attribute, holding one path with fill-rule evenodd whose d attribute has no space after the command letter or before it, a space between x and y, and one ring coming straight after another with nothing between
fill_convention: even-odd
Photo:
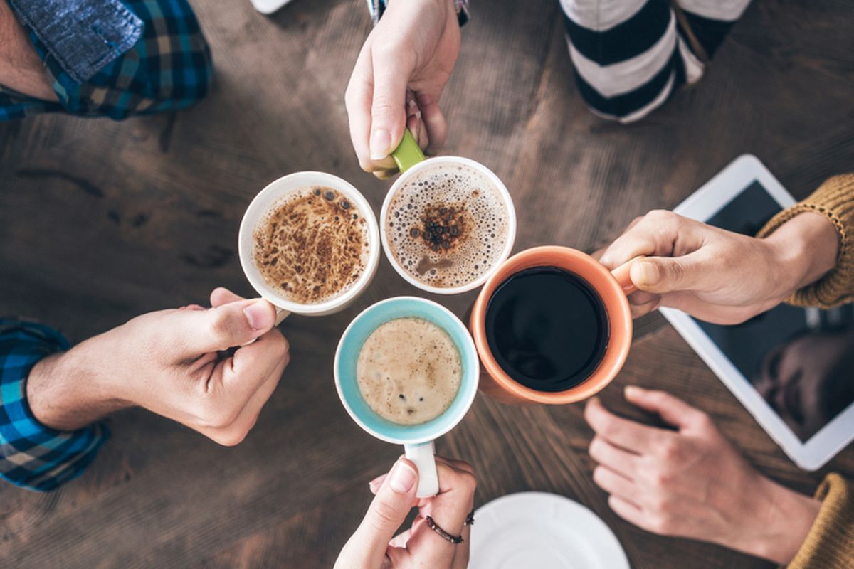
<instances>
[{"instance_id":1,"label":"brown-powdered coffee foam inside the leftmost white mug","mask_svg":"<svg viewBox=\"0 0 854 569\"><path fill-rule=\"evenodd\" d=\"M369 253L362 213L335 189L312 186L284 195L255 225L252 259L269 287L301 305L346 293Z\"/></svg>"}]
</instances>

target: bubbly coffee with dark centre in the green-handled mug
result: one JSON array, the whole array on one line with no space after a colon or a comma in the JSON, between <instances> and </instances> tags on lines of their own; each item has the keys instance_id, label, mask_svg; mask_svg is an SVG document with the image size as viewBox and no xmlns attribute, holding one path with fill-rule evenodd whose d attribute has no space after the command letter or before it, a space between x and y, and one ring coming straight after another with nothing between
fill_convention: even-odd
<instances>
[{"instance_id":1,"label":"bubbly coffee with dark centre in the green-handled mug","mask_svg":"<svg viewBox=\"0 0 854 569\"><path fill-rule=\"evenodd\" d=\"M441 232L436 237L431 231L432 240L424 238L430 223L438 223ZM477 281L499 262L508 212L499 189L481 171L437 165L397 190L383 224L403 270L426 285L453 288Z\"/></svg>"}]
</instances>

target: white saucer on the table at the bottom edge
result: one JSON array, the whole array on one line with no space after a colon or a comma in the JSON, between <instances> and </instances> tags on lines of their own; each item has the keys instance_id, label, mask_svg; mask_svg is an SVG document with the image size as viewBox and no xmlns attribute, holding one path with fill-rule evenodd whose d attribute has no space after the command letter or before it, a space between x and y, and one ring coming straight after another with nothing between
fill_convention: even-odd
<instances>
[{"instance_id":1,"label":"white saucer on the table at the bottom edge","mask_svg":"<svg viewBox=\"0 0 854 569\"><path fill-rule=\"evenodd\" d=\"M564 496L519 492L484 504L471 526L469 569L630 569L599 516Z\"/></svg>"}]
</instances>

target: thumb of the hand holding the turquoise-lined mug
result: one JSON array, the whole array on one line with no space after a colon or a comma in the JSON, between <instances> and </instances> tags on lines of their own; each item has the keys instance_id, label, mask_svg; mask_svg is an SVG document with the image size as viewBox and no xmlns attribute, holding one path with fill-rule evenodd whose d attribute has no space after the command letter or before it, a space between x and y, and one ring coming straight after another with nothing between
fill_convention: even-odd
<instances>
[{"instance_id":1,"label":"thumb of the hand holding the turquoise-lined mug","mask_svg":"<svg viewBox=\"0 0 854 569\"><path fill-rule=\"evenodd\" d=\"M418 472L406 458L391 468L362 520L342 550L339 562L347 567L378 567L397 529L415 504Z\"/></svg>"}]
</instances>

